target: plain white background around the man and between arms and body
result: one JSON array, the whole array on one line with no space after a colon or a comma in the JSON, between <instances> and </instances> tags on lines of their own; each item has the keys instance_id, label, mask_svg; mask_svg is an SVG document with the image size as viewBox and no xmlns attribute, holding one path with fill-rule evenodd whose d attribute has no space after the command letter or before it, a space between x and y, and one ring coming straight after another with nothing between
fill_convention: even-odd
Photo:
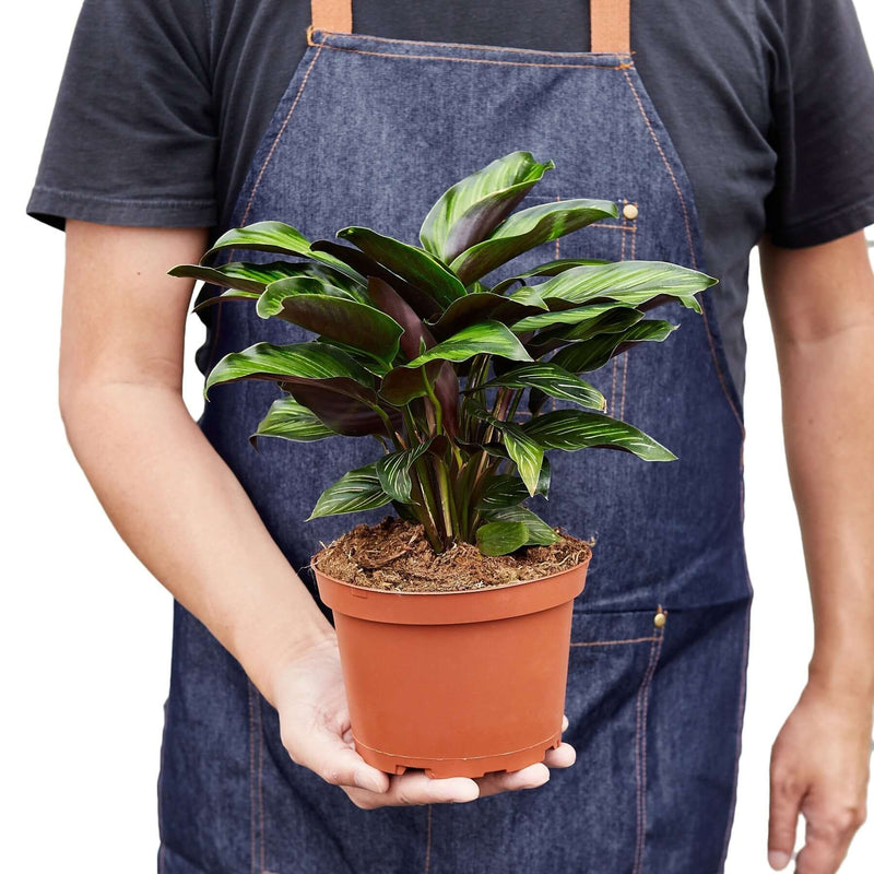
<instances>
[{"instance_id":1,"label":"plain white background around the man and between arms and body","mask_svg":"<svg viewBox=\"0 0 874 874\"><path fill-rule=\"evenodd\" d=\"M0 869L135 874L155 866L172 600L120 540L67 445L57 408L63 236L24 215L78 8L40 0L3 15ZM859 11L874 46L874 10L859 0ZM185 391L198 415L192 355L201 324L191 317L188 327ZM746 331L746 538L756 597L729 874L769 870L770 744L804 684L812 646L755 259ZM872 859L874 825L841 871L870 874Z\"/></svg>"}]
</instances>

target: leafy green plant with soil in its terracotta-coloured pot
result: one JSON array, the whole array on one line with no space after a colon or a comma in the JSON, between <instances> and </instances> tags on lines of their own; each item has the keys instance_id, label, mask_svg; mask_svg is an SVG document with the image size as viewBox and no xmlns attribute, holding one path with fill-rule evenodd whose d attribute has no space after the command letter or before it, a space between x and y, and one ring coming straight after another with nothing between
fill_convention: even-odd
<instances>
[{"instance_id":1,"label":"leafy green plant with soil in its terracotta-coloured pot","mask_svg":"<svg viewBox=\"0 0 874 874\"><path fill-rule=\"evenodd\" d=\"M170 271L227 287L201 306L249 300L316 334L256 343L208 374L208 400L223 382L279 385L253 444L374 440L374 461L328 485L310 519L388 505L397 518L356 527L312 569L334 615L356 748L389 772L515 770L560 743L572 603L592 551L525 501L548 494L547 450L675 459L606 415L580 375L663 341L677 326L647 310L678 300L700 312L695 294L714 279L658 261L556 259L484 281L617 217L615 203L584 199L513 212L553 167L512 152L461 179L425 216L421 246L359 226L338 231L343 243L310 243L259 222ZM296 260L206 265L232 249ZM562 409L545 412L546 399Z\"/></svg>"}]
</instances>

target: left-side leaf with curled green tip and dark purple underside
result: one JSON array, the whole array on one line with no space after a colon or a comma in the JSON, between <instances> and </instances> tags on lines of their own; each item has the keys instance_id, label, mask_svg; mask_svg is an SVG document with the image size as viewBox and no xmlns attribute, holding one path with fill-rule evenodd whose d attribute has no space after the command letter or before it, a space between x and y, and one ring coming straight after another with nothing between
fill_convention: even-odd
<instances>
[{"instance_id":1,"label":"left-side leaf with curled green tip and dark purple underside","mask_svg":"<svg viewBox=\"0 0 874 874\"><path fill-rule=\"evenodd\" d=\"M275 316L390 364L403 328L385 312L350 299L323 280L293 276L267 286L256 306L262 319Z\"/></svg>"}]
</instances>

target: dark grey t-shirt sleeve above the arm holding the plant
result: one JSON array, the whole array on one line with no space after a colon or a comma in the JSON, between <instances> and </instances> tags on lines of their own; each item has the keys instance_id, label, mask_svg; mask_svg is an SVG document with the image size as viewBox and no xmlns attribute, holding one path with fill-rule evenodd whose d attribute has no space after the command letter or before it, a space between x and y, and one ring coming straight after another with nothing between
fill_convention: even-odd
<instances>
[{"instance_id":1,"label":"dark grey t-shirt sleeve above the arm holding the plant","mask_svg":"<svg viewBox=\"0 0 874 874\"><path fill-rule=\"evenodd\" d=\"M217 133L204 0L85 0L27 214L62 228L211 227Z\"/></svg>"}]
</instances>

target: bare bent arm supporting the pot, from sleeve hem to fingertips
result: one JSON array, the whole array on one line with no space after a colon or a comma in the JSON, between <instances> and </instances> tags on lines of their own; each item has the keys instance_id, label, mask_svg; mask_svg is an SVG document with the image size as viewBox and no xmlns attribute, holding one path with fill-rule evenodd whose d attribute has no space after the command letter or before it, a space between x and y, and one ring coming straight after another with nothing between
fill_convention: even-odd
<instances>
[{"instance_id":1,"label":"bare bent arm supporting the pot, from sleeve hem to fingertips","mask_svg":"<svg viewBox=\"0 0 874 874\"><path fill-rule=\"evenodd\" d=\"M276 707L292 758L358 806L540 786L574 763L568 744L476 781L389 778L355 752L333 628L182 401L193 283L166 272L205 246L202 229L67 223L60 411L113 524Z\"/></svg>"}]
</instances>

